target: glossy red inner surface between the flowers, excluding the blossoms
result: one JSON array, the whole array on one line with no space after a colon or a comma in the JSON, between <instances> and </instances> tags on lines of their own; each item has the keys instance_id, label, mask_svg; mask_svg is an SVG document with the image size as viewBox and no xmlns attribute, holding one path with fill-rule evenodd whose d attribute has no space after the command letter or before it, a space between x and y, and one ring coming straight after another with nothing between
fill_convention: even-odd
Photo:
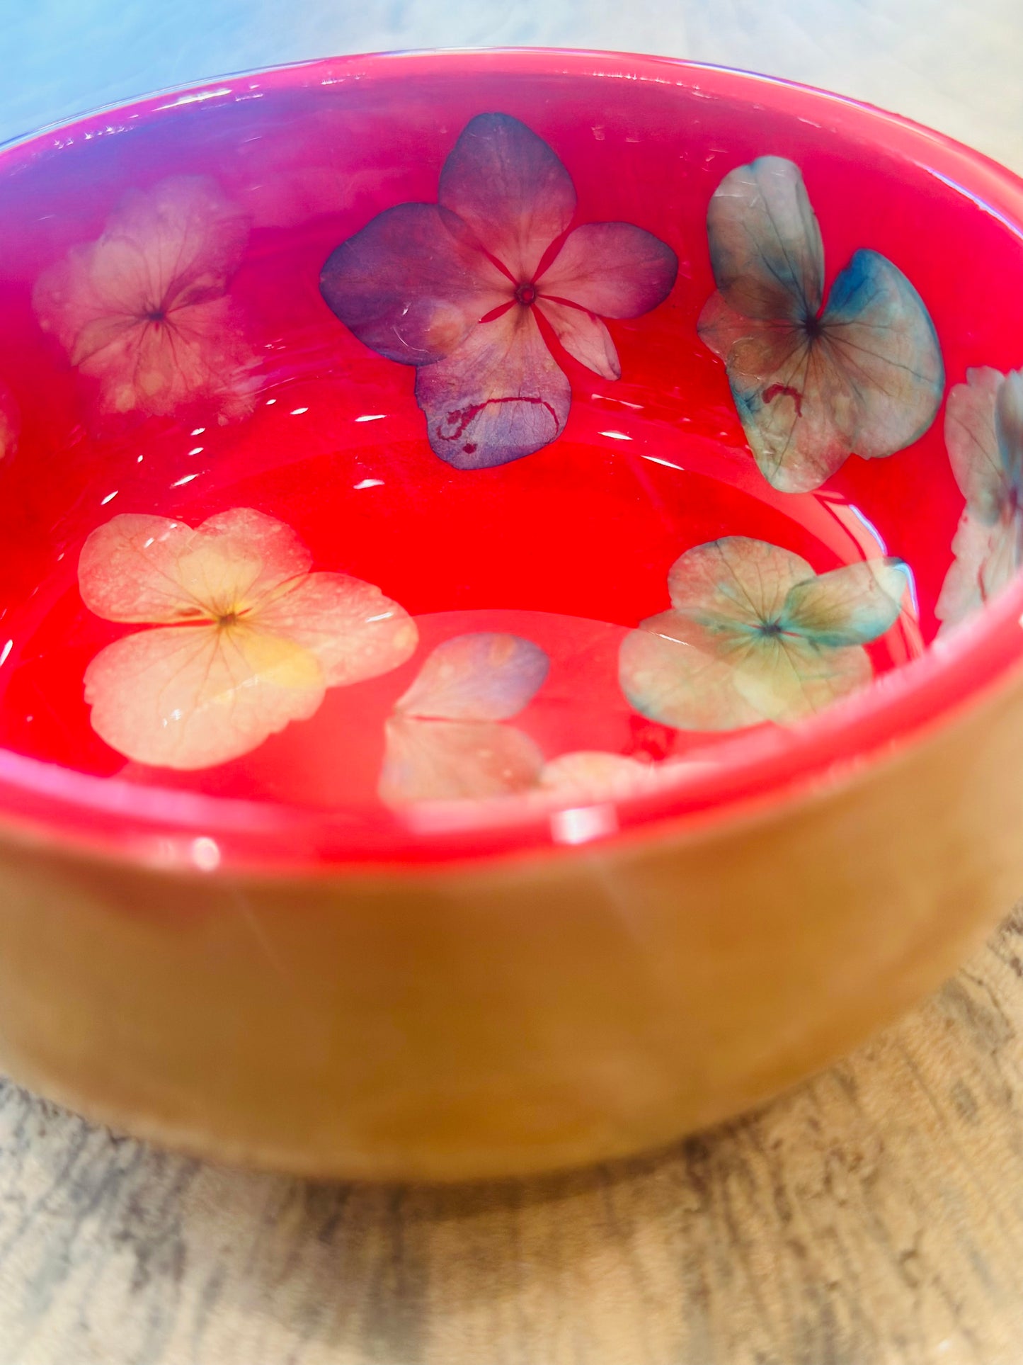
<instances>
[{"instance_id":1,"label":"glossy red inner surface between the flowers, excluding the blossoms","mask_svg":"<svg viewBox=\"0 0 1023 1365\"><path fill-rule=\"evenodd\" d=\"M434 201L454 139L486 111L521 119L557 150L578 222L629 217L674 248L679 274L653 313L610 324L619 381L558 355L573 390L559 440L458 471L427 445L413 371L341 326L318 276L374 214ZM22 412L18 450L0 464L4 818L170 864L187 864L196 839L228 864L306 870L550 846L563 822L536 811L426 820L376 803L383 719L434 643L507 629L551 655L543 702L516 721L550 756L707 751L707 736L632 713L614 661L625 631L667 606L678 554L720 535L782 543L817 571L898 554L913 569L918 628L872 647L878 673L899 666L884 687L794 730L712 737L707 771L619 803L603 834L722 818L910 736L1011 667L1023 643L1018 587L951 646L908 662L934 636L963 508L941 416L887 460L848 459L814 494L773 491L752 461L696 321L715 288L708 201L727 171L768 153L803 172L827 285L862 246L913 280L947 388L970 366L1023 362L1005 307L1023 296L1023 187L936 135L754 76L585 53L340 59L154 97L0 154L0 377ZM90 420L87 384L41 332L33 284L101 233L125 187L172 175L213 176L252 216L232 295L262 390L244 422L190 412L110 429ZM188 774L125 764L91 730L83 699L85 667L125 628L83 612L82 543L115 512L196 526L232 506L286 521L316 568L378 584L420 618L420 648L393 674L329 692L311 721L244 760Z\"/></svg>"}]
</instances>

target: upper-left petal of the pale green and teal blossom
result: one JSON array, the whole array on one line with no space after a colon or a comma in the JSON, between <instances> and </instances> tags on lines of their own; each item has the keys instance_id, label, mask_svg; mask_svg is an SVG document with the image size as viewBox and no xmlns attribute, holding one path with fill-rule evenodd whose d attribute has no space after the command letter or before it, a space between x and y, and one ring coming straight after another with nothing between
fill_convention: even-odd
<instances>
[{"instance_id":1,"label":"upper-left petal of the pale green and teal blossom","mask_svg":"<svg viewBox=\"0 0 1023 1365\"><path fill-rule=\"evenodd\" d=\"M675 560L668 592L679 617L717 632L777 620L790 591L809 577L813 569L791 550L728 535L697 545Z\"/></svg>"}]
</instances>

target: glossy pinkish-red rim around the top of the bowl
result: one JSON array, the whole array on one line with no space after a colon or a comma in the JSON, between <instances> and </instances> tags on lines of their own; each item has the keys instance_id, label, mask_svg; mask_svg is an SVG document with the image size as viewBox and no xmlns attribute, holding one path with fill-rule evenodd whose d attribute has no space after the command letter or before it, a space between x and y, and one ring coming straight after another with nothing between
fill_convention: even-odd
<instances>
[{"instance_id":1,"label":"glossy pinkish-red rim around the top of the bowl","mask_svg":"<svg viewBox=\"0 0 1023 1365\"><path fill-rule=\"evenodd\" d=\"M0 145L0 161L34 158L65 142L56 134L95 135L110 115L138 116L198 100L232 96L231 82L303 87L397 78L409 66L516 75L618 76L685 86L708 97L753 101L773 93L784 112L831 113L831 127L910 158L948 188L996 217L1023 246L1023 179L983 153L900 115L814 86L679 57L562 48L420 49L378 52L266 67L175 86L61 120ZM172 102L169 97L177 97ZM352 811L231 800L139 786L0 748L0 841L75 848L139 867L207 875L401 876L507 857L589 856L681 838L737 823L822 785L881 764L956 722L1023 672L1023 572L971 620L917 659L792 728L719 738L713 767L612 800L527 808L514 799L391 812L360 822ZM566 816L576 816L574 820Z\"/></svg>"}]
</instances>

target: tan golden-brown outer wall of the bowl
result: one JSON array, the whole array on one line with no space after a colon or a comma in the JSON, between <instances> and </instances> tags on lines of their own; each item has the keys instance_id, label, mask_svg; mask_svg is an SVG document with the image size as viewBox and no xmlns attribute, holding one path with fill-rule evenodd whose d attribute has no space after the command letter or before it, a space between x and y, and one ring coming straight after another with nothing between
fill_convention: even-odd
<instances>
[{"instance_id":1,"label":"tan golden-brown outer wall of the bowl","mask_svg":"<svg viewBox=\"0 0 1023 1365\"><path fill-rule=\"evenodd\" d=\"M653 1147L936 986L1023 882L1023 678L705 830L445 871L183 876L0 846L0 1065L94 1118L316 1175Z\"/></svg>"}]
</instances>

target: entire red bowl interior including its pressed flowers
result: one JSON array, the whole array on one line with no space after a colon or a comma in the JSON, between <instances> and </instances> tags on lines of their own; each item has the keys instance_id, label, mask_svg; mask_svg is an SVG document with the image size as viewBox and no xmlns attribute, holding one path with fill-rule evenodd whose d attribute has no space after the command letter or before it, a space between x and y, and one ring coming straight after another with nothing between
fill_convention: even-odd
<instances>
[{"instance_id":1,"label":"entire red bowl interior including its pressed flowers","mask_svg":"<svg viewBox=\"0 0 1023 1365\"><path fill-rule=\"evenodd\" d=\"M539 53L231 78L8 149L5 762L201 865L307 816L315 857L325 820L331 859L573 842L917 667L1018 538L1023 251L943 154Z\"/></svg>"}]
</instances>

